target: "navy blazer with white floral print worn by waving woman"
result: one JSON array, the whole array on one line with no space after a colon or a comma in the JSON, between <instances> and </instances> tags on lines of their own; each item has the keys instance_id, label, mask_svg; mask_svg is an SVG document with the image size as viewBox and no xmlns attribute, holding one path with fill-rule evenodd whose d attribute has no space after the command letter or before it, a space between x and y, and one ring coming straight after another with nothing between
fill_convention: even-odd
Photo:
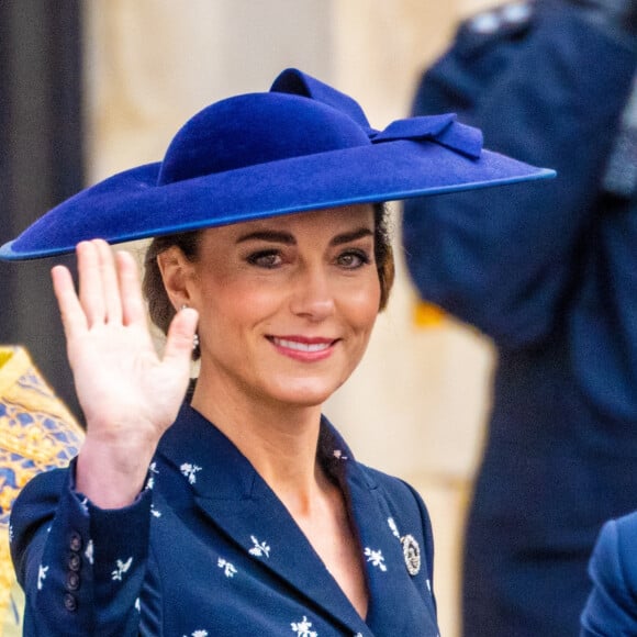
<instances>
[{"instance_id":1,"label":"navy blazer with white floral print worn by waving woman","mask_svg":"<svg viewBox=\"0 0 637 637\"><path fill-rule=\"evenodd\" d=\"M366 621L248 460L185 404L133 505L93 506L74 491L72 466L24 488L11 518L24 635L435 637L421 498L358 463L326 421L320 459L358 533Z\"/></svg>"}]
</instances>

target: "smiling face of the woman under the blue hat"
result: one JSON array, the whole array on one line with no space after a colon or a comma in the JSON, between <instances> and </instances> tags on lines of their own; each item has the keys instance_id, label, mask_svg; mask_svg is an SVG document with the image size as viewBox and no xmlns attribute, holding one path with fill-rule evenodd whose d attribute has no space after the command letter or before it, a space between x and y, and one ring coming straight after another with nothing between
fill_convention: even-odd
<instances>
[{"instance_id":1,"label":"smiling face of the woman under the blue hat","mask_svg":"<svg viewBox=\"0 0 637 637\"><path fill-rule=\"evenodd\" d=\"M360 361L378 314L373 232L371 205L204 231L187 266L200 382L324 402Z\"/></svg>"}]
</instances>

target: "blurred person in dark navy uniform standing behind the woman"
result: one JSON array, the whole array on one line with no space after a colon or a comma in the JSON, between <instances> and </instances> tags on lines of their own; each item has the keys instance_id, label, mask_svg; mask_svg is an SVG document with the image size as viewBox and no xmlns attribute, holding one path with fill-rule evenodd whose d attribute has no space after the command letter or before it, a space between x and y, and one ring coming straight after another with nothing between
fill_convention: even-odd
<instances>
[{"instance_id":1,"label":"blurred person in dark navy uniform standing behind the woman","mask_svg":"<svg viewBox=\"0 0 637 637\"><path fill-rule=\"evenodd\" d=\"M455 111L558 178L405 202L422 298L498 349L463 555L466 637L569 636L602 524L637 505L637 2L461 24L414 114Z\"/></svg>"}]
</instances>

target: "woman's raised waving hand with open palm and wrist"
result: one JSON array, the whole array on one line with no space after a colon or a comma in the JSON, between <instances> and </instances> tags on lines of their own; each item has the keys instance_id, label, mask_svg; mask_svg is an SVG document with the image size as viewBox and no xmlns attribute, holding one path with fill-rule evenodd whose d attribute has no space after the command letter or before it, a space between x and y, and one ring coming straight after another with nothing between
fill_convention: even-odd
<instances>
[{"instance_id":1,"label":"woman's raised waving hand with open palm and wrist","mask_svg":"<svg viewBox=\"0 0 637 637\"><path fill-rule=\"evenodd\" d=\"M137 266L101 241L77 247L79 295L67 268L52 270L87 436L78 491L104 509L133 502L189 380L197 312L178 312L159 357L147 324Z\"/></svg>"}]
</instances>

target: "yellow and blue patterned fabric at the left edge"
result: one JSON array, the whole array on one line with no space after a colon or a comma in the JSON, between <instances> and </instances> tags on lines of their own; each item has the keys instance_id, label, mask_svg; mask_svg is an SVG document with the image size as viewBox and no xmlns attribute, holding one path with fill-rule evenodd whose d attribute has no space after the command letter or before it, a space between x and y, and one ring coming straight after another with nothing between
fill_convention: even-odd
<instances>
[{"instance_id":1,"label":"yellow and blue patterned fabric at the left edge","mask_svg":"<svg viewBox=\"0 0 637 637\"><path fill-rule=\"evenodd\" d=\"M23 595L9 551L10 514L37 473L68 466L83 432L22 347L0 347L0 636L21 635Z\"/></svg>"}]
</instances>

